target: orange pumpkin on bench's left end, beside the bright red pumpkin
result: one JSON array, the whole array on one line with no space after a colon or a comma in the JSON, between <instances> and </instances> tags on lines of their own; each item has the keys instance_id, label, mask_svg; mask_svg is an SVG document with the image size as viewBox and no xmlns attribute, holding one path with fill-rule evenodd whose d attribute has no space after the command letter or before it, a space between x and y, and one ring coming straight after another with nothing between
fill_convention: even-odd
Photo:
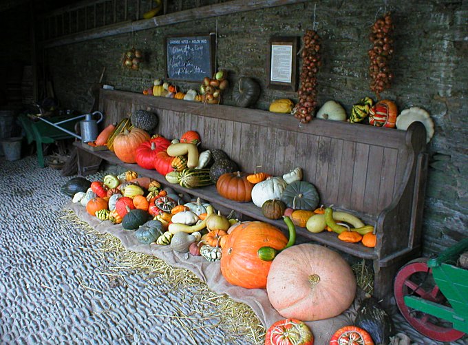
<instances>
[{"instance_id":1,"label":"orange pumpkin on bench's left end, beside the bright red pumpkin","mask_svg":"<svg viewBox=\"0 0 468 345\"><path fill-rule=\"evenodd\" d=\"M114 139L114 153L124 163L136 163L136 149L149 138L149 134L143 129L136 127L125 129Z\"/></svg>"}]
</instances>

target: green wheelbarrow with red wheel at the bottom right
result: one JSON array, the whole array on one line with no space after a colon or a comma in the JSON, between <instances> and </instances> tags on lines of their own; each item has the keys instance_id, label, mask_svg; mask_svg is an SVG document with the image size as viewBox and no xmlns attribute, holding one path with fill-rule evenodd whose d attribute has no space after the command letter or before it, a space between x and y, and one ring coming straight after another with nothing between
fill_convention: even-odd
<instances>
[{"instance_id":1,"label":"green wheelbarrow with red wheel at the bottom right","mask_svg":"<svg viewBox=\"0 0 468 345\"><path fill-rule=\"evenodd\" d=\"M401 314L416 331L440 342L468 333L468 269L457 266L468 238L437 258L418 258L396 274L394 296Z\"/></svg>"}]
</instances>

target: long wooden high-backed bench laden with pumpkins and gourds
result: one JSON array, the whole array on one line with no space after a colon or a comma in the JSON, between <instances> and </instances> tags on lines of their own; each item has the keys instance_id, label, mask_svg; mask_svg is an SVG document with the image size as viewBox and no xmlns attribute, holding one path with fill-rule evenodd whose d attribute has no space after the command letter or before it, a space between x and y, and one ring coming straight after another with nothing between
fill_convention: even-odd
<instances>
[{"instance_id":1,"label":"long wooden high-backed bench laden with pumpkins and gourds","mask_svg":"<svg viewBox=\"0 0 468 345\"><path fill-rule=\"evenodd\" d=\"M304 180L317 187L321 203L374 224L378 244L372 249L342 242L336 233L310 233L304 228L298 229L300 241L319 242L372 260L374 295L385 303L390 301L396 270L421 251L427 175L425 128L421 123L414 123L407 131L319 119L299 126L287 114L101 90L100 111L105 114L105 125L137 109L156 112L158 132L167 138L180 138L189 129L197 131L203 148L226 151L243 171L262 165L262 171L281 176L301 167ZM111 151L93 154L167 183L156 171L122 163ZM222 198L214 186L171 187L286 229L283 222L264 218L252 202Z\"/></svg>"}]
</instances>

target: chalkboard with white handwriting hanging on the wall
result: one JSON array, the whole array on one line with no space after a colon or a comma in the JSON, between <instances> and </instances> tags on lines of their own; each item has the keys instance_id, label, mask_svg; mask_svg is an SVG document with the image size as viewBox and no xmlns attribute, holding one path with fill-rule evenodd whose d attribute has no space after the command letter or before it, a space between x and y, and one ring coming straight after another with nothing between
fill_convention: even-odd
<instances>
[{"instance_id":1,"label":"chalkboard with white handwriting hanging on the wall","mask_svg":"<svg viewBox=\"0 0 468 345\"><path fill-rule=\"evenodd\" d=\"M167 36L166 78L178 81L202 81L213 76L214 36Z\"/></svg>"}]
</instances>

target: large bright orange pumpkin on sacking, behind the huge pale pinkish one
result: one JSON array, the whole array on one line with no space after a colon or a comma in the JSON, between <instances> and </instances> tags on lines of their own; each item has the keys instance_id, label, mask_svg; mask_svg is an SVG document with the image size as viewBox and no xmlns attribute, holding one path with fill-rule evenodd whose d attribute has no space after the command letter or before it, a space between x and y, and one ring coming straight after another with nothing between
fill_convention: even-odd
<instances>
[{"instance_id":1,"label":"large bright orange pumpkin on sacking, behind the huge pale pinkish one","mask_svg":"<svg viewBox=\"0 0 468 345\"><path fill-rule=\"evenodd\" d=\"M265 222L244 222L227 236L221 256L221 273L228 282L246 289L265 289L271 262L260 260L261 247L283 249L288 239Z\"/></svg>"}]
</instances>

